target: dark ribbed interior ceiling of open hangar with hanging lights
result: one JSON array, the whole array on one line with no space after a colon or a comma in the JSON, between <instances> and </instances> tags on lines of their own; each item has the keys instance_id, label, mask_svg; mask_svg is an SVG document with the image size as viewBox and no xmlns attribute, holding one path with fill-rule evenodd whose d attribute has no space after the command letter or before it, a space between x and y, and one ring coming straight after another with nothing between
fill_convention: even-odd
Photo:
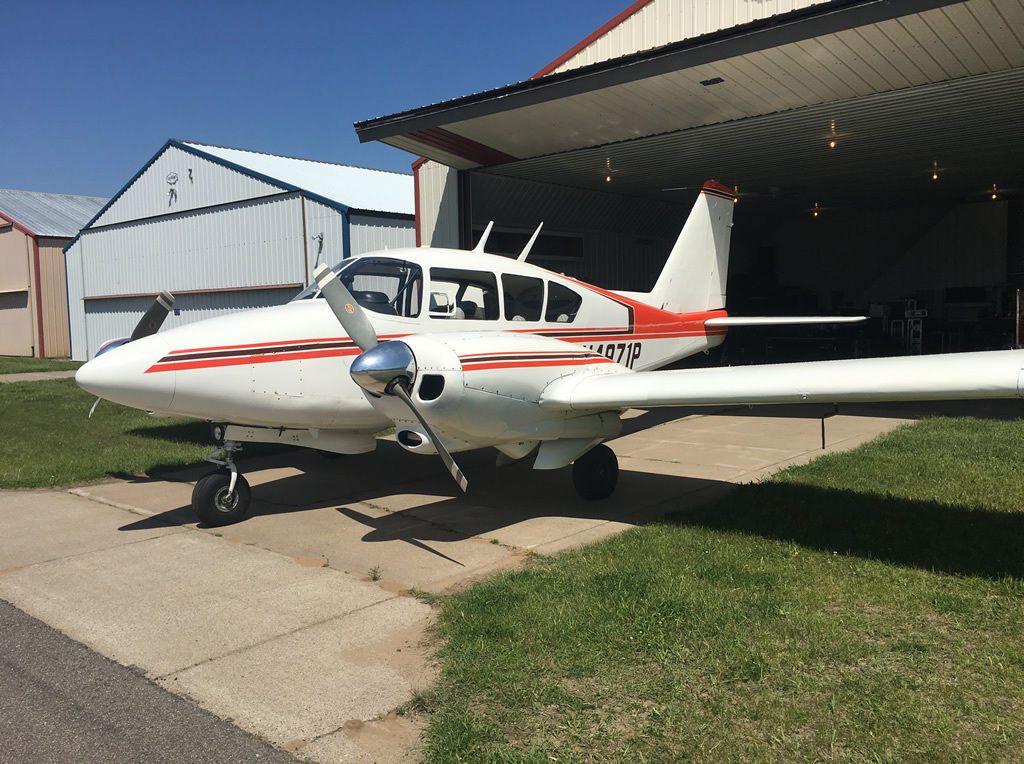
<instances>
[{"instance_id":1,"label":"dark ribbed interior ceiling of open hangar with hanging lights","mask_svg":"<svg viewBox=\"0 0 1024 764\"><path fill-rule=\"evenodd\" d=\"M1005 197L1024 186L1022 94L1017 69L475 172L668 201L711 177L786 206Z\"/></svg>"}]
</instances>

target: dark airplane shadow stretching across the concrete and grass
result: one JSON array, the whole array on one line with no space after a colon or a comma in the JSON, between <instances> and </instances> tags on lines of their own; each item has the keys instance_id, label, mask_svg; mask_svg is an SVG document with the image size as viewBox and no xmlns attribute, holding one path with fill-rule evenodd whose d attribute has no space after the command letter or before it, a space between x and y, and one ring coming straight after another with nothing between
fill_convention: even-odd
<instances>
[{"instance_id":1,"label":"dark airplane shadow stretching across the concrete and grass","mask_svg":"<svg viewBox=\"0 0 1024 764\"><path fill-rule=\"evenodd\" d=\"M679 416L678 410L650 412L627 420L624 434ZM728 482L630 469L621 470L613 497L587 502L575 495L568 469L536 471L528 459L499 468L494 454L459 455L470 477L467 496L458 495L439 460L409 454L390 441L372 454L337 459L305 450L257 457L241 463L257 476L248 519L333 508L339 519L368 528L362 542L401 541L456 564L462 563L428 545L487 536L535 518L589 518L679 522L954 575L1024 577L1024 514L797 483L754 483L736 491ZM258 478L260 471L285 467L299 471ZM195 479L208 469L186 471L179 479ZM717 497L724 498L697 506ZM121 529L191 522L191 508L179 506Z\"/></svg>"}]
</instances>

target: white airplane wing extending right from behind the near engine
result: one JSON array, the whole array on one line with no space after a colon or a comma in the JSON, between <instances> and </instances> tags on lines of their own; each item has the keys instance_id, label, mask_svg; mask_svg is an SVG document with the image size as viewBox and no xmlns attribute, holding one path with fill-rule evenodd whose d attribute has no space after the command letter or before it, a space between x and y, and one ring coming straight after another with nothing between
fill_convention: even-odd
<instances>
[{"instance_id":1,"label":"white airplane wing extending right from behind the near engine","mask_svg":"<svg viewBox=\"0 0 1024 764\"><path fill-rule=\"evenodd\" d=\"M807 364L573 375L541 398L551 409L838 404L1024 396L1024 350Z\"/></svg>"}]
</instances>

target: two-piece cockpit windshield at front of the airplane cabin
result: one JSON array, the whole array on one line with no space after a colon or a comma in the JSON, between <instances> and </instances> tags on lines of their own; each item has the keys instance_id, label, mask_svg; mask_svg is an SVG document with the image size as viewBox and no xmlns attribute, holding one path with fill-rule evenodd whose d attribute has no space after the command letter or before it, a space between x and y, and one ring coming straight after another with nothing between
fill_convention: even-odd
<instances>
[{"instance_id":1,"label":"two-piece cockpit windshield at front of the airplane cabin","mask_svg":"<svg viewBox=\"0 0 1024 764\"><path fill-rule=\"evenodd\" d=\"M415 319L423 302L423 270L419 265L392 257L359 257L334 267L342 284L367 310L384 315ZM296 300L318 299L311 284Z\"/></svg>"}]
</instances>

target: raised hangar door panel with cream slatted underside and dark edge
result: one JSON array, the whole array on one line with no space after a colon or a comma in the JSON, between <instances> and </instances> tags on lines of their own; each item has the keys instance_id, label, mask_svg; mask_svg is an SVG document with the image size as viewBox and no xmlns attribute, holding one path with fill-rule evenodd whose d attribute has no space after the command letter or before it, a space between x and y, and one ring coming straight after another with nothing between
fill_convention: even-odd
<instances>
[{"instance_id":1,"label":"raised hangar door panel with cream slatted underside and dark edge","mask_svg":"<svg viewBox=\"0 0 1024 764\"><path fill-rule=\"evenodd\" d=\"M470 169L1018 67L1024 0L833 0L355 127Z\"/></svg>"}]
</instances>

